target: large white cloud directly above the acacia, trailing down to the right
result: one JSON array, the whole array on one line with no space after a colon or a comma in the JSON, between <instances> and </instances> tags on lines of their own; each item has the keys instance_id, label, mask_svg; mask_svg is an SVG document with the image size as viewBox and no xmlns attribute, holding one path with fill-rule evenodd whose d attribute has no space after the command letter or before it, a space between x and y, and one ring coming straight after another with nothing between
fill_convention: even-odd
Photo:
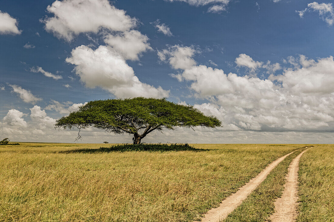
<instances>
[{"instance_id":1,"label":"large white cloud directly above the acacia, trailing down to the right","mask_svg":"<svg viewBox=\"0 0 334 222\"><path fill-rule=\"evenodd\" d=\"M166 97L169 91L142 83L122 55L109 46L93 50L76 47L66 62L75 65L75 73L89 88L101 87L117 97Z\"/></svg>"}]
</instances>

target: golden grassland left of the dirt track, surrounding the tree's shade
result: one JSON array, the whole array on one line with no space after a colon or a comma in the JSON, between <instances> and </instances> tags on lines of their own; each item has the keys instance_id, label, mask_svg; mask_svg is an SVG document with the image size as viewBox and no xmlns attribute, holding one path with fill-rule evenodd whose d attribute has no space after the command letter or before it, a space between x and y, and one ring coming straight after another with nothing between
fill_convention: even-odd
<instances>
[{"instance_id":1,"label":"golden grassland left of the dirt track, surrounding the tree's shade","mask_svg":"<svg viewBox=\"0 0 334 222\"><path fill-rule=\"evenodd\" d=\"M78 150L101 146L110 145L0 146L0 220L192 221L270 162L304 145L194 144L202 150L169 152ZM279 172L285 172L286 165Z\"/></svg>"}]
</instances>

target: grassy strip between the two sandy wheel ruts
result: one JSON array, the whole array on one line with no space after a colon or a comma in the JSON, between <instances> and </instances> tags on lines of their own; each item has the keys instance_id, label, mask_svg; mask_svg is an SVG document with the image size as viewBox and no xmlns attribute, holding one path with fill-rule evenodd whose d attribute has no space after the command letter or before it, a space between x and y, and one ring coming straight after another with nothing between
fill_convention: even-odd
<instances>
[{"instance_id":1,"label":"grassy strip between the two sandy wheel ruts","mask_svg":"<svg viewBox=\"0 0 334 222\"><path fill-rule=\"evenodd\" d=\"M275 212L275 200L282 196L285 176L291 161L300 154L302 150L287 156L267 176L267 178L240 204L224 222L258 222L268 221L271 214Z\"/></svg>"}]
</instances>

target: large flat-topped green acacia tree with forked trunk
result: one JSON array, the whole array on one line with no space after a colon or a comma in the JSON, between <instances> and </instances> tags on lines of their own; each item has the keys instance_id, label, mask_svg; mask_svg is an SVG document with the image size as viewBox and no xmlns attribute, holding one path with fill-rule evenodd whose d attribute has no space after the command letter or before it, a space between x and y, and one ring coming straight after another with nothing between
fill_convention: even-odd
<instances>
[{"instance_id":1,"label":"large flat-topped green acacia tree with forked trunk","mask_svg":"<svg viewBox=\"0 0 334 222\"><path fill-rule=\"evenodd\" d=\"M80 129L95 127L115 134L133 134L133 144L140 144L153 130L195 126L215 128L221 126L221 122L191 105L144 97L90 101L55 124L55 128L77 127L79 133ZM81 138L79 133L76 139Z\"/></svg>"}]
</instances>

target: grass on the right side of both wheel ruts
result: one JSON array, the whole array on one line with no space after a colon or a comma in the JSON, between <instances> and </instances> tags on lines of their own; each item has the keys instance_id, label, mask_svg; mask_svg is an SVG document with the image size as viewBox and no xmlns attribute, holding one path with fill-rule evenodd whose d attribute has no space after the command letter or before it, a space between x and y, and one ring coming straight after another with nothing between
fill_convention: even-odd
<instances>
[{"instance_id":1,"label":"grass on the right side of both wheel ruts","mask_svg":"<svg viewBox=\"0 0 334 222\"><path fill-rule=\"evenodd\" d=\"M298 222L334 221L334 145L317 145L299 163Z\"/></svg>"}]
</instances>

